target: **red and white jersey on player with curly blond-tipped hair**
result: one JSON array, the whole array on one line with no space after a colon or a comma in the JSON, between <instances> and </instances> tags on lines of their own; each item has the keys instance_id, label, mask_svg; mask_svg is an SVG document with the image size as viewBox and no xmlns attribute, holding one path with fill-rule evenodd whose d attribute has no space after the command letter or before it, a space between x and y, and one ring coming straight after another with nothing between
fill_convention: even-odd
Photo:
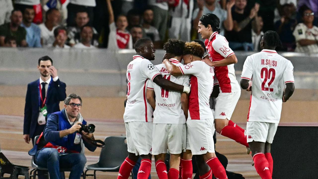
<instances>
[{"instance_id":1,"label":"red and white jersey on player with curly blond-tipped hair","mask_svg":"<svg viewBox=\"0 0 318 179\"><path fill-rule=\"evenodd\" d=\"M179 68L183 75L191 75L188 120L213 118L209 104L213 90L213 67L203 61L193 61Z\"/></svg>"}]
</instances>

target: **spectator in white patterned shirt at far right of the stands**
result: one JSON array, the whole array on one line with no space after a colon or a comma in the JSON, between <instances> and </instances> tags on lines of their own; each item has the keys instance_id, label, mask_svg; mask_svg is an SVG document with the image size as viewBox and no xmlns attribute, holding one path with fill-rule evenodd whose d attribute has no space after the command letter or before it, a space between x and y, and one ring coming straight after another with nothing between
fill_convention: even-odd
<instances>
[{"instance_id":1,"label":"spectator in white patterned shirt at far right of the stands","mask_svg":"<svg viewBox=\"0 0 318 179\"><path fill-rule=\"evenodd\" d=\"M313 25L314 12L308 7L301 11L303 23L296 25L293 35L296 40L295 52L318 52L318 27Z\"/></svg>"}]
</instances>

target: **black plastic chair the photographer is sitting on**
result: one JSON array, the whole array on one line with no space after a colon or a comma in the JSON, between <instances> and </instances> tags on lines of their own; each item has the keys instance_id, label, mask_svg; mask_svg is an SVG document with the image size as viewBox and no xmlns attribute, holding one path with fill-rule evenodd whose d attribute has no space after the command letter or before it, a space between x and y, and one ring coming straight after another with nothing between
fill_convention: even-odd
<instances>
[{"instance_id":1,"label":"black plastic chair the photographer is sitting on","mask_svg":"<svg viewBox=\"0 0 318 179\"><path fill-rule=\"evenodd\" d=\"M38 136L36 136L36 137L34 138L34 144L37 142L37 140L38 140L39 137L40 137L40 136L38 135ZM34 144L33 144L33 145L34 145ZM81 154L84 154L85 146L84 146L83 141L81 141L81 147L82 147L82 150L81 150L80 153L81 153ZM34 169L32 169L31 172L30 172L30 179L32 179L32 177L33 177L33 179L36 178L36 176L38 175L38 170L45 170L45 171L47 171L47 178L49 179L49 171L47 170L47 168L40 167L40 166L38 166L38 165L35 163L35 155L32 156L31 166L32 166L32 168L34 168ZM70 172L70 171L71 171L71 168L60 168L60 172ZM85 179L84 171L82 172L82 177L83 177L83 179Z\"/></svg>"}]
</instances>

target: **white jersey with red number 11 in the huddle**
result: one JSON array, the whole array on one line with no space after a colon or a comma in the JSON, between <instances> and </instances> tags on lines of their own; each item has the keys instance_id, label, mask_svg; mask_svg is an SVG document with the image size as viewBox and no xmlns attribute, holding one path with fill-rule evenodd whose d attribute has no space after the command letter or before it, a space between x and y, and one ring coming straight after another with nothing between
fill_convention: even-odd
<instances>
[{"instance_id":1,"label":"white jersey with red number 11 in the huddle","mask_svg":"<svg viewBox=\"0 0 318 179\"><path fill-rule=\"evenodd\" d=\"M169 59L176 66L183 65L176 59ZM164 64L156 65L163 78L184 86L190 86L189 75L173 76L169 74ZM185 124L185 116L181 108L181 93L163 89L154 82L149 82L148 89L155 90L156 109L154 124Z\"/></svg>"}]
</instances>

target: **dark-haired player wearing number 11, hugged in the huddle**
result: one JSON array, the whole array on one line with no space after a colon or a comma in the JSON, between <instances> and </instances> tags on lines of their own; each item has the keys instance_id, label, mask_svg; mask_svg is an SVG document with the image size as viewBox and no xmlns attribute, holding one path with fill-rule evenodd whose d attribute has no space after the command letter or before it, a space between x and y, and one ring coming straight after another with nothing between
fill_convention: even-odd
<instances>
[{"instance_id":1,"label":"dark-haired player wearing number 11, hugged in the huddle","mask_svg":"<svg viewBox=\"0 0 318 179\"><path fill-rule=\"evenodd\" d=\"M182 40L169 39L163 45L166 53L176 55L169 59L176 66L183 65L181 61L184 44ZM156 65L156 67L160 70L163 78L177 84L190 86L189 75L170 75L164 64ZM154 99L154 94L156 95L156 100ZM149 82L147 99L149 104L155 108L152 131L152 154L155 155L158 177L159 179L178 179L180 156L186 147L187 129L185 122L188 117L188 96L186 93L180 94L180 92L165 90L156 83ZM164 162L167 149L170 152L170 169L168 174Z\"/></svg>"}]
</instances>

